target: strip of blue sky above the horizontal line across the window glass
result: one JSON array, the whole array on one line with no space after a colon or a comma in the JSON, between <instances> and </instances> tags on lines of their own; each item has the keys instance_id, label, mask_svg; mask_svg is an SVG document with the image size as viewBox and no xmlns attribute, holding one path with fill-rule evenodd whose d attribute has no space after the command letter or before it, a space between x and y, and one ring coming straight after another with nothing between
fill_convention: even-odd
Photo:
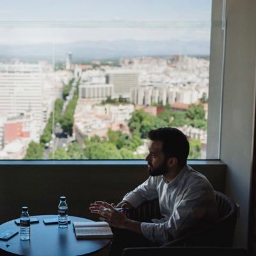
<instances>
[{"instance_id":1,"label":"strip of blue sky above the horizontal line across the window glass","mask_svg":"<svg viewBox=\"0 0 256 256\"><path fill-rule=\"evenodd\" d=\"M1 0L0 21L211 20L211 0Z\"/></svg>"}]
</instances>

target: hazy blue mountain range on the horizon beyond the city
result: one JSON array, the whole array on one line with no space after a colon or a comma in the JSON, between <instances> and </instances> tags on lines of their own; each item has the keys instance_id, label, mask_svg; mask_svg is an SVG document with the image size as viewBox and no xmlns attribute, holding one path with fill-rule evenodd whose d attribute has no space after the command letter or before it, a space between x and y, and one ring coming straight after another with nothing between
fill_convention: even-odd
<instances>
[{"instance_id":1,"label":"hazy blue mountain range on the horizon beyond the city","mask_svg":"<svg viewBox=\"0 0 256 256\"><path fill-rule=\"evenodd\" d=\"M208 41L181 42L179 40L141 41L83 41L70 44L0 45L0 61L18 58L22 61L65 61L72 52L74 62L111 60L138 56L172 56L173 54L209 56Z\"/></svg>"}]
</instances>

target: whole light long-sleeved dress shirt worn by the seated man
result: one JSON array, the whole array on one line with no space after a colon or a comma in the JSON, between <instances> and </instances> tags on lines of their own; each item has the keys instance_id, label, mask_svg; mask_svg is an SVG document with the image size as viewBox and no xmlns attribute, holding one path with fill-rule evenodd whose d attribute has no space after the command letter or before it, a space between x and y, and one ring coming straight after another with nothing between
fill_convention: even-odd
<instances>
[{"instance_id":1,"label":"whole light long-sleeved dress shirt worn by the seated man","mask_svg":"<svg viewBox=\"0 0 256 256\"><path fill-rule=\"evenodd\" d=\"M163 218L141 223L143 236L156 243L167 243L218 217L212 185L202 173L188 165L171 182L163 175L150 176L123 200L136 208L145 200L156 197Z\"/></svg>"}]
</instances>

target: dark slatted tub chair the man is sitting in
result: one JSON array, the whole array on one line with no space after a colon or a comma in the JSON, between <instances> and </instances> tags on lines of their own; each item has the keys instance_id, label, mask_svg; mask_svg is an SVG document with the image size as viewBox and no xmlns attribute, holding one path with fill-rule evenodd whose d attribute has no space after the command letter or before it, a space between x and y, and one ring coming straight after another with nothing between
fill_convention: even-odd
<instances>
[{"instance_id":1,"label":"dark slatted tub chair the man is sitting in","mask_svg":"<svg viewBox=\"0 0 256 256\"><path fill-rule=\"evenodd\" d=\"M216 192L219 218L214 223L206 225L196 231L170 241L163 246L214 246L230 247L233 244L234 230L236 227L238 207L227 195ZM160 218L158 198L143 202L137 209L128 214L129 218L138 221L148 221Z\"/></svg>"}]
</instances>

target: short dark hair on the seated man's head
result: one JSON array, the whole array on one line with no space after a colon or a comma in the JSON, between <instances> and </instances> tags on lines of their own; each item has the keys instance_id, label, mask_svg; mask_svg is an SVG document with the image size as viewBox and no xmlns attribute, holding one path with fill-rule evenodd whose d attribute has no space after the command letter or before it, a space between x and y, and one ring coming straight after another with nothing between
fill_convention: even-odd
<instances>
[{"instance_id":1,"label":"short dark hair on the seated man's head","mask_svg":"<svg viewBox=\"0 0 256 256\"><path fill-rule=\"evenodd\" d=\"M176 157L180 167L187 163L189 142L182 131L173 127L161 127L149 131L147 135L152 141L163 142L162 150L165 157Z\"/></svg>"}]
</instances>

